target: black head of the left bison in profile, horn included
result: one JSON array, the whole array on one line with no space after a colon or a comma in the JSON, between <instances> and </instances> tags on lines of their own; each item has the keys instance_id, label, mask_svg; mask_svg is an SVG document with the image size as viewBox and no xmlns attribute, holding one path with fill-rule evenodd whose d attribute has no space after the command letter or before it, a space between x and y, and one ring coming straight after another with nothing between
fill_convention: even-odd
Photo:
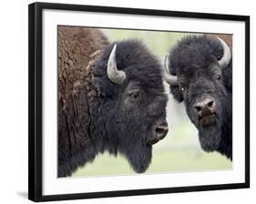
<instances>
[{"instance_id":1,"label":"black head of the left bison in profile, horn included","mask_svg":"<svg viewBox=\"0 0 256 204\"><path fill-rule=\"evenodd\" d=\"M102 100L98 117L104 121L108 151L123 154L136 172L144 172L152 145L168 132L159 61L139 41L117 42L97 61L93 83Z\"/></svg>"}]
</instances>

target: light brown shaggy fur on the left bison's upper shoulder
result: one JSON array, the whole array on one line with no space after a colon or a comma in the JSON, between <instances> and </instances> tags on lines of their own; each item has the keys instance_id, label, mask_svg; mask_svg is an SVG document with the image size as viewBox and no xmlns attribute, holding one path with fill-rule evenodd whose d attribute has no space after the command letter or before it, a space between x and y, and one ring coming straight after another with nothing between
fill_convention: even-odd
<instances>
[{"instance_id":1,"label":"light brown shaggy fur on the left bison's upper shoulder","mask_svg":"<svg viewBox=\"0 0 256 204\"><path fill-rule=\"evenodd\" d=\"M58 107L65 108L67 95L72 92L74 84L91 81L88 78L91 79L92 68L108 46L108 40L95 28L58 26L57 34Z\"/></svg>"}]
</instances>

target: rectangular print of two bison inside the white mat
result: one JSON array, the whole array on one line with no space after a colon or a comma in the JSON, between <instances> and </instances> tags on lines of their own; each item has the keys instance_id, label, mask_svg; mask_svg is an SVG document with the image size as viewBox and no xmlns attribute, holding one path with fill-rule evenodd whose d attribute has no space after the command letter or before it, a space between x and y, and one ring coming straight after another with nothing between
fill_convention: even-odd
<instances>
[{"instance_id":1,"label":"rectangular print of two bison inside the white mat","mask_svg":"<svg viewBox=\"0 0 256 204\"><path fill-rule=\"evenodd\" d=\"M232 168L231 35L57 36L58 177Z\"/></svg>"}]
</instances>

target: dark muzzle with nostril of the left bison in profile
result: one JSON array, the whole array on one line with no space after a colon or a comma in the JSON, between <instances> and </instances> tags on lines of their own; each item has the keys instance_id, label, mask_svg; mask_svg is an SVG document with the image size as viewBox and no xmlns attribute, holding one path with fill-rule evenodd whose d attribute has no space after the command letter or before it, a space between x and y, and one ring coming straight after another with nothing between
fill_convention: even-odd
<instances>
[{"instance_id":1,"label":"dark muzzle with nostril of the left bison in profile","mask_svg":"<svg viewBox=\"0 0 256 204\"><path fill-rule=\"evenodd\" d=\"M148 141L148 145L153 145L159 142L159 140L165 138L167 136L168 130L169 128L167 121L159 121L156 125L153 126L153 137Z\"/></svg>"}]
</instances>

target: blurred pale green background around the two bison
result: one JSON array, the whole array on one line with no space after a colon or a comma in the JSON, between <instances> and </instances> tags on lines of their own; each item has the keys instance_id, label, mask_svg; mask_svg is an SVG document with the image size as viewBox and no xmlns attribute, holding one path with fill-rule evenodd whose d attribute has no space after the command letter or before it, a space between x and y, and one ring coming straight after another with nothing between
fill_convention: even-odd
<instances>
[{"instance_id":1,"label":"blurred pale green background around the two bison","mask_svg":"<svg viewBox=\"0 0 256 204\"><path fill-rule=\"evenodd\" d=\"M163 60L171 46L188 33L101 29L109 41L130 38L141 39L148 48ZM167 92L169 88L165 84ZM232 162L219 153L206 153L200 148L198 131L189 121L184 105L178 104L169 95L167 107L169 134L153 147L153 158L146 173L202 171L231 169ZM92 163L77 169L72 177L96 175L135 174L122 155L110 156L108 152L97 155Z\"/></svg>"}]
</instances>

